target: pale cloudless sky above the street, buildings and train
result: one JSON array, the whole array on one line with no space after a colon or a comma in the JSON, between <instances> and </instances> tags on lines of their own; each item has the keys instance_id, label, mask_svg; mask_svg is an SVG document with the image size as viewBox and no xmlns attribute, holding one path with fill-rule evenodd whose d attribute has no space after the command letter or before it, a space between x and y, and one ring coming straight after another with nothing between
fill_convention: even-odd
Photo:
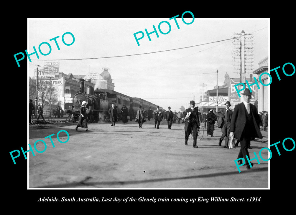
<instances>
[{"instance_id":1,"label":"pale cloudless sky above the street, buildings and train","mask_svg":"<svg viewBox=\"0 0 296 215\"><path fill-rule=\"evenodd\" d=\"M172 14L171 17L176 14ZM131 97L143 98L167 110L179 111L181 106L188 107L194 99L200 101L200 84L207 84L206 90L211 90L218 84L223 85L224 75L239 77L232 68L232 42L226 40L233 33L253 33L254 69L258 62L269 53L269 19L197 19L177 18L179 29L171 17L157 19L28 19L28 53L38 51L42 42L51 45L52 51L44 56L31 55L28 60L28 76L33 77L33 71L43 68L44 62L59 62L59 70L65 74L86 75L88 72L103 71L108 67L115 91ZM180 14L181 17L181 14ZM171 30L161 34L158 25L162 21L170 23ZM159 37L153 31L157 29ZM163 32L168 32L166 22L160 25ZM134 33L144 32L144 38L138 46ZM66 46L62 43L62 35L71 32L75 41ZM59 36L57 49L50 39ZM141 34L136 35L138 38ZM70 34L65 35L65 42L71 43ZM226 40L226 41L221 41ZM217 43L211 43L221 41ZM207 45L196 46L204 43ZM188 46L194 46L185 49ZM172 51L165 51L177 49ZM43 53L48 53L45 44L41 46ZM158 53L142 54L162 51ZM138 54L138 55L136 55ZM139 55L141 54L141 55ZM124 57L122 55L133 55ZM108 58L107 58L108 57ZM101 58L101 59L88 59ZM65 60L67 59L67 60ZM82 60L68 60L82 59ZM248 77L248 75L247 75Z\"/></svg>"}]
</instances>

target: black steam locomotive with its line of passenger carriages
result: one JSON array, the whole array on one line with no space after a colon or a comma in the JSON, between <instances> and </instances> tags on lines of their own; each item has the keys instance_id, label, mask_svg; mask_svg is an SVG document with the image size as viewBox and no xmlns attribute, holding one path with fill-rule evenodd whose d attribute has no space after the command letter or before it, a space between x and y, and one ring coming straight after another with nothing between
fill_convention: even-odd
<instances>
[{"instance_id":1,"label":"black steam locomotive with its line of passenger carriages","mask_svg":"<svg viewBox=\"0 0 296 215\"><path fill-rule=\"evenodd\" d=\"M138 106L141 105L144 109L149 109L151 107L152 110L156 109L156 105L146 101L141 98L132 98L130 96L126 96L122 93L116 92L114 90L107 89L96 89L92 86L88 86L86 88L86 93L84 92L84 80L80 80L80 88L81 92L76 93L73 96L73 106L72 110L65 110L65 113L72 114L72 122L76 122L79 117L79 109L81 107L81 103L83 101L88 102L86 105L86 114L89 119L89 122L105 122L110 120L110 116L108 114L110 104L115 103L118 111L118 118L121 118L121 108L123 105L126 105L128 108L132 106L134 116L138 110ZM160 108L162 109L162 108ZM70 119L69 119L70 120Z\"/></svg>"}]
</instances>

